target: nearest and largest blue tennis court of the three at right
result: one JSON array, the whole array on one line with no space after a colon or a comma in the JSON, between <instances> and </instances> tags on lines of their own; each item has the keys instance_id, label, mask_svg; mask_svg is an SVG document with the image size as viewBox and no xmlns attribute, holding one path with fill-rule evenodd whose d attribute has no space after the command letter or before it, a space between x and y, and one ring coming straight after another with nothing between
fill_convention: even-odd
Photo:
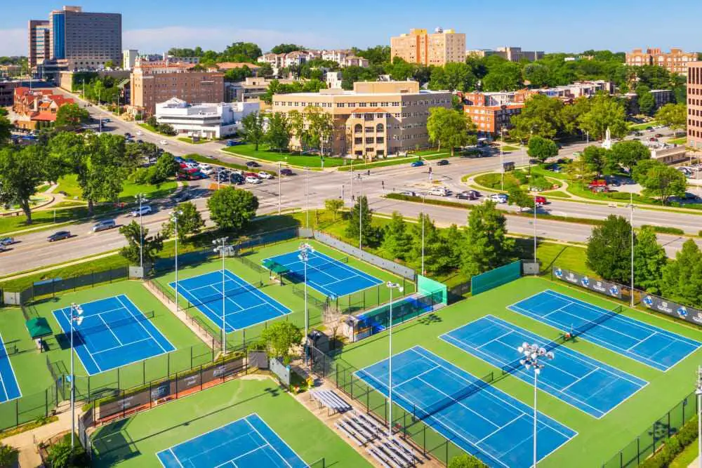
<instances>
[{"instance_id":1,"label":"nearest and largest blue tennis court of the three at right","mask_svg":"<svg viewBox=\"0 0 702 468\"><path fill-rule=\"evenodd\" d=\"M388 396L388 359L357 372ZM416 346L392 356L392 399L491 467L531 467L534 410ZM576 432L538 413L538 460Z\"/></svg>"}]
</instances>

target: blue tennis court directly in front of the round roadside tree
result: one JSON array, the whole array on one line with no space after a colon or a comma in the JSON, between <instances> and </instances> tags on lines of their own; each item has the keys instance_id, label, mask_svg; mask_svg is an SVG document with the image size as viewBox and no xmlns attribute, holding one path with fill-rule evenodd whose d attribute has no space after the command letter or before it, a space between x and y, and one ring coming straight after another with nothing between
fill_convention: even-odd
<instances>
[{"instance_id":1,"label":"blue tennis court directly in front of the round roadside tree","mask_svg":"<svg viewBox=\"0 0 702 468\"><path fill-rule=\"evenodd\" d=\"M291 311L262 290L225 269L225 305L222 306L222 272L211 272L178 281L178 293L205 314L217 328L230 333L256 323L277 319ZM170 283L176 288L176 282Z\"/></svg>"}]
</instances>

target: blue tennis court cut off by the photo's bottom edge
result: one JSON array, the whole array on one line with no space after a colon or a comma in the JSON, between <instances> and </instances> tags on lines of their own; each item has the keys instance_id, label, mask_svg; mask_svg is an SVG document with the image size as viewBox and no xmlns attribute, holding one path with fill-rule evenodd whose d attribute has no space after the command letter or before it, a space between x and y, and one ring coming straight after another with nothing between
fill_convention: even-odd
<instances>
[{"instance_id":1,"label":"blue tennis court cut off by the photo's bottom edge","mask_svg":"<svg viewBox=\"0 0 702 468\"><path fill-rule=\"evenodd\" d=\"M306 468L256 413L157 453L166 468Z\"/></svg>"}]
</instances>

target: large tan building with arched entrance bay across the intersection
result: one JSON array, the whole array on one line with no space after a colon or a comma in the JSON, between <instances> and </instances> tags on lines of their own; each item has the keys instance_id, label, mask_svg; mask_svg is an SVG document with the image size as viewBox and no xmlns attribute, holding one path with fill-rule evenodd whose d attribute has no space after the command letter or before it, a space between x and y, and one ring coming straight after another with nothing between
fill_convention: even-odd
<instances>
[{"instance_id":1,"label":"large tan building with arched entrance bay across the intersection","mask_svg":"<svg viewBox=\"0 0 702 468\"><path fill-rule=\"evenodd\" d=\"M420 90L416 81L359 81L353 91L273 95L272 112L303 112L308 106L333 116L332 154L373 159L428 147L429 109L450 108L451 93ZM300 142L293 140L291 146Z\"/></svg>"}]
</instances>

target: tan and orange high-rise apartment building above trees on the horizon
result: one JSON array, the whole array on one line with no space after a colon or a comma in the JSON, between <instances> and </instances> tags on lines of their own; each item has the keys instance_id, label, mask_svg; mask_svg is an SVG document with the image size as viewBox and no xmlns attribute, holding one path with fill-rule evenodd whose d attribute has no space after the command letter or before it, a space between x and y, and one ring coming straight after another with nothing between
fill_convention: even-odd
<instances>
[{"instance_id":1,"label":"tan and orange high-rise apartment building above trees on the horizon","mask_svg":"<svg viewBox=\"0 0 702 468\"><path fill-rule=\"evenodd\" d=\"M437 27L435 32L410 29L409 34L390 38L390 58L409 63L443 67L449 62L465 62L465 34Z\"/></svg>"}]
</instances>

